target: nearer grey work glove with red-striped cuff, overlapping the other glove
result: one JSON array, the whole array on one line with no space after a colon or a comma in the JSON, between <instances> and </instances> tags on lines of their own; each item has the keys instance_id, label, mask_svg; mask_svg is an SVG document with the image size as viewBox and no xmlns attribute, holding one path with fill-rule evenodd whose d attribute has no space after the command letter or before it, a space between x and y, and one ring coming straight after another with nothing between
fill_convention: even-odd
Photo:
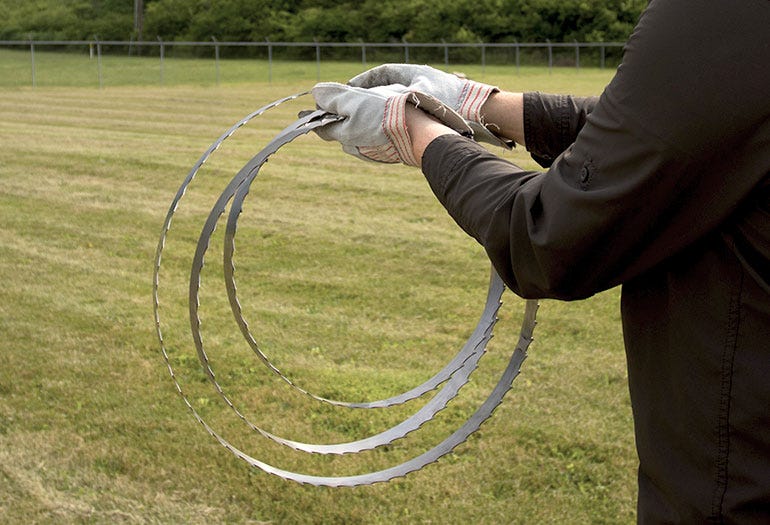
<instances>
[{"instance_id":1,"label":"nearer grey work glove with red-striped cuff, overlapping the other glove","mask_svg":"<svg viewBox=\"0 0 770 525\"><path fill-rule=\"evenodd\" d=\"M324 140L336 140L346 153L364 160L418 166L406 128L406 104L414 104L461 134L472 136L465 120L439 100L403 85L372 89L321 82L312 89L319 109L346 117L316 128Z\"/></svg>"}]
</instances>

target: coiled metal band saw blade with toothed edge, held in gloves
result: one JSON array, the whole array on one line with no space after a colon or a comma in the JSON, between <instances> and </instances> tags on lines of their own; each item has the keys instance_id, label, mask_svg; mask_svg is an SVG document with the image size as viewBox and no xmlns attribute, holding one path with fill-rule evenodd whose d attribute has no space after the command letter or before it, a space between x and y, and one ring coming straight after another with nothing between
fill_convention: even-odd
<instances>
[{"instance_id":1,"label":"coiled metal band saw blade with toothed edge, held in gloves","mask_svg":"<svg viewBox=\"0 0 770 525\"><path fill-rule=\"evenodd\" d=\"M217 431L210 427L208 423L204 421L204 419L195 409L194 404L190 402L187 395L184 393L183 388L179 383L179 378L174 372L174 368L169 357L169 352L166 348L166 343L161 334L161 322L159 313L160 299L158 291L160 289L159 273L161 268L162 252L166 247L166 238L171 230L172 218L186 193L187 187L195 178L195 175L198 173L198 170L201 168L201 166L210 158L212 153L218 150L227 138L233 136L246 123L286 101L294 100L306 94L307 93L299 93L277 100L271 104L268 104L267 106L258 109L257 111L254 111L253 113L238 121L223 135L221 135L219 139L217 139L208 148L208 150L206 150L206 152L204 152L201 158L195 163L193 168L188 173L187 177L177 191L174 199L172 200L171 205L169 206L169 210L164 220L160 240L156 250L153 274L153 306L156 320L156 333L161 347L161 353L165 360L169 374L172 381L174 382L177 392L184 400L184 404L192 412L193 417L206 429L206 431L217 441L219 441L223 447L225 447L237 457L243 459L253 467L259 468L270 474L280 476L284 479L296 481L298 483L341 487L385 482L394 478L403 477L410 472L418 470L430 463L437 461L440 457L448 454L458 445L466 441L468 437L473 432L478 430L481 424L492 415L495 408L502 402L505 393L510 389L513 380L519 374L521 364L526 358L526 351L532 342L532 333L536 324L535 316L538 309L538 303L536 301L526 302L519 342L516 345L507 368L503 372L501 378L499 379L498 383L486 401L484 401L476 409L475 413L471 415L465 421L465 423L460 426L460 428L458 428L454 433L452 433L438 445L404 463L388 469L353 476L315 476L310 474L291 472L253 458L245 452L234 447L222 435L220 435ZM209 216L202 228L200 237L198 239L198 244L196 246L195 255L193 257L188 297L190 330L192 332L196 353L201 366L203 367L204 373L206 374L208 380L213 384L217 394L222 398L225 404L231 410L233 410L234 413L241 420L243 420L243 422L246 423L246 425L251 430L283 446L297 451L313 454L354 454L365 450L371 450L373 448L389 445L398 439L404 438L406 435L412 432L418 431L423 427L423 425L425 425L425 423L433 419L437 413L445 409L448 403L458 395L460 389L468 383L471 373L476 370L481 356L486 352L486 347L489 341L494 337L493 330L498 323L497 314L502 306L500 298L502 297L503 291L505 290L505 286L502 280L493 269L490 274L489 289L487 291L487 299L485 302L484 310L473 333L470 335L456 356L449 363L447 363L444 368L442 368L433 377L421 385L407 392L403 392L399 395L387 399L357 402L327 399L322 396L312 394L300 388L298 385L295 385L289 377L284 375L276 366L270 362L268 357L260 350L259 346L257 345L256 338L250 331L249 323L244 317L241 303L238 299L238 292L235 283L236 267L233 261L233 255L235 253L235 235L243 201L249 193L251 183L259 174L260 168L268 161L269 157L273 153L291 142L296 137L304 135L320 126L335 122L340 118L341 117L337 115L332 115L320 110L303 112L297 121L280 132L272 141L270 141L267 146L265 146L265 148L257 153L257 155L255 155L248 163L246 163L246 165L244 165L244 167L233 177L227 187L220 194L219 199L212 207ZM217 223L221 216L224 214L228 204L230 205L230 212L225 229L225 243L223 250L223 268L228 299L230 302L231 311L236 320L236 323L242 332L242 335L254 353L268 368L268 370L280 377L290 387L298 390L299 392L309 396L316 401L350 409L387 408L394 405L404 404L408 401L421 397L427 392L435 391L433 398L425 403L422 408L405 418L401 423L387 429L386 431L347 443L301 443L269 433L250 422L246 416L239 411L236 404L227 396L224 389L217 382L216 375L211 368L208 357L206 355L206 351L204 349L203 337L201 334L202 323L198 313L200 308L199 291L201 285L201 271L204 266L205 255L209 249L209 243L213 232L216 229Z\"/></svg>"}]
</instances>

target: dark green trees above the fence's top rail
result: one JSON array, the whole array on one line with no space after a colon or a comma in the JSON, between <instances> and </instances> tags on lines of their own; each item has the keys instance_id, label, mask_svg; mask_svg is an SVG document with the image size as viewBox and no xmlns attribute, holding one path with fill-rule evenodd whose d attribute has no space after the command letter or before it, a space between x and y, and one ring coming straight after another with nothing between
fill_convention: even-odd
<instances>
[{"instance_id":1,"label":"dark green trees above the fence's top rail","mask_svg":"<svg viewBox=\"0 0 770 525\"><path fill-rule=\"evenodd\" d=\"M0 0L3 40L610 42L646 0Z\"/></svg>"}]
</instances>

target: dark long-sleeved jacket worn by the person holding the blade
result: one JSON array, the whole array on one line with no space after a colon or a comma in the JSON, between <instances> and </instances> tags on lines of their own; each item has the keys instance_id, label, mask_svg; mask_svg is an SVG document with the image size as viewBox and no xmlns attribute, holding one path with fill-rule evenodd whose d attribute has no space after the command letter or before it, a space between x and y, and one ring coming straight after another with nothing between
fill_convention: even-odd
<instances>
[{"instance_id":1,"label":"dark long-sleeved jacket worn by the person holding the blade","mask_svg":"<svg viewBox=\"0 0 770 525\"><path fill-rule=\"evenodd\" d=\"M640 522L770 523L770 1L654 0L601 97L524 118L547 171L443 136L436 196L524 297L623 285Z\"/></svg>"}]
</instances>

